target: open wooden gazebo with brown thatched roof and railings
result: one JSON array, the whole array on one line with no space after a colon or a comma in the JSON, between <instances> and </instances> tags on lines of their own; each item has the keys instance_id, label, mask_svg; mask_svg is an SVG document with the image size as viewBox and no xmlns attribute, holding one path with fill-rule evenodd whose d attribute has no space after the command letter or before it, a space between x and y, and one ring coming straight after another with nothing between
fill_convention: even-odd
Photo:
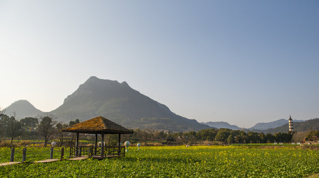
<instances>
[{"instance_id":1,"label":"open wooden gazebo with brown thatched roof and railings","mask_svg":"<svg viewBox=\"0 0 319 178\"><path fill-rule=\"evenodd\" d=\"M121 134L134 133L102 116L75 124L61 131L76 133L75 146L70 147L71 157L89 156L95 159L125 156L125 147L120 145ZM79 133L95 134L94 146L79 146ZM97 134L101 134L101 146L97 145ZM105 146L104 134L119 134L118 146Z\"/></svg>"}]
</instances>

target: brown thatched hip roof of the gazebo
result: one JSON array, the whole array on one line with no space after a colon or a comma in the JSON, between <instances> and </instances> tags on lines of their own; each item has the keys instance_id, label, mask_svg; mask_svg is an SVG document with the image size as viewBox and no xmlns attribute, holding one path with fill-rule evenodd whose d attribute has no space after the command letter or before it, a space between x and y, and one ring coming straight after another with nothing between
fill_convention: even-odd
<instances>
[{"instance_id":1,"label":"brown thatched hip roof of the gazebo","mask_svg":"<svg viewBox=\"0 0 319 178\"><path fill-rule=\"evenodd\" d=\"M129 129L107 120L102 116L98 116L96 118L62 129L62 132L87 134L133 134L133 131L130 131Z\"/></svg>"}]
</instances>

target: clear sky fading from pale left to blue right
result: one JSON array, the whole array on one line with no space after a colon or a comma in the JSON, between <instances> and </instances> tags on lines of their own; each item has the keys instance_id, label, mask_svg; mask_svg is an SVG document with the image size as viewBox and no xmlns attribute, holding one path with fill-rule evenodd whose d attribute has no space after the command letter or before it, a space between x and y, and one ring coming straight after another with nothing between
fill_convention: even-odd
<instances>
[{"instance_id":1,"label":"clear sky fading from pale left to blue right","mask_svg":"<svg viewBox=\"0 0 319 178\"><path fill-rule=\"evenodd\" d=\"M0 107L42 111L89 77L198 122L319 117L317 0L1 0Z\"/></svg>"}]
</instances>

